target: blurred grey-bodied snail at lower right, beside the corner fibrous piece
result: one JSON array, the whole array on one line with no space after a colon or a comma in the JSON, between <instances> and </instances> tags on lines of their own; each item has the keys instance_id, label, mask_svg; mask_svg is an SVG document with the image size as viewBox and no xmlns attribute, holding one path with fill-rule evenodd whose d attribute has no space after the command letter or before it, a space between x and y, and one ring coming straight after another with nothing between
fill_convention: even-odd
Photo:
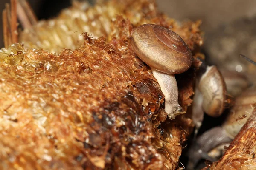
<instances>
[{"instance_id":1,"label":"blurred grey-bodied snail at lower right, beside the corner fibrous piece","mask_svg":"<svg viewBox=\"0 0 256 170\"><path fill-rule=\"evenodd\" d=\"M210 152L219 145L231 142L241 127L245 124L256 101L256 86L251 86L241 95L236 97L235 105L230 110L227 119L221 126L213 127L198 137L190 150L190 167L198 163L200 159L211 159ZM224 150L224 148L223 148ZM212 160L215 161L215 160Z\"/></svg>"}]
</instances>

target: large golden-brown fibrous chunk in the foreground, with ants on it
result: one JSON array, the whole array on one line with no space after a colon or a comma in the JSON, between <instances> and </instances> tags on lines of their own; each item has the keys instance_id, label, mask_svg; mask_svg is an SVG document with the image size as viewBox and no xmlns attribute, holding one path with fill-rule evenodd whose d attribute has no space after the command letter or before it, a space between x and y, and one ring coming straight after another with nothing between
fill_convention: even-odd
<instances>
[{"instance_id":1,"label":"large golden-brown fibrous chunk in the foreground, with ants on it","mask_svg":"<svg viewBox=\"0 0 256 170\"><path fill-rule=\"evenodd\" d=\"M163 94L133 54L103 39L59 54L16 49L15 64L0 65L2 168L163 166L151 143Z\"/></svg>"}]
</instances>

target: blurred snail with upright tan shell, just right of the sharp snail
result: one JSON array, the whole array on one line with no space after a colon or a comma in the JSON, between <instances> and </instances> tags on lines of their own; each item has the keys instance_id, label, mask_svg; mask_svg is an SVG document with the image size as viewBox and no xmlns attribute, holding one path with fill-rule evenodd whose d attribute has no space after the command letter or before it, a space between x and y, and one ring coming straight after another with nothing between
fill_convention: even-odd
<instances>
[{"instance_id":1,"label":"blurred snail with upright tan shell, just right of the sharp snail","mask_svg":"<svg viewBox=\"0 0 256 170\"><path fill-rule=\"evenodd\" d=\"M212 117L218 117L223 113L227 103L227 88L215 65L206 66L203 64L199 69L199 76L195 84L192 119L195 124L195 134L197 134L204 119L204 112Z\"/></svg>"}]
</instances>

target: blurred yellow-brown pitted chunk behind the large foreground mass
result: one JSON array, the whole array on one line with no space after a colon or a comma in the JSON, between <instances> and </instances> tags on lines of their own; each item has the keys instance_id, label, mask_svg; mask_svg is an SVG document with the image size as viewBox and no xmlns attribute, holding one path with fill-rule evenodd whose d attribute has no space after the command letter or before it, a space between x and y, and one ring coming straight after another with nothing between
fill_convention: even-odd
<instances>
[{"instance_id":1,"label":"blurred yellow-brown pitted chunk behind the large foreground mass","mask_svg":"<svg viewBox=\"0 0 256 170\"><path fill-rule=\"evenodd\" d=\"M88 32L94 38L106 36L109 41L119 34L117 30L111 29L118 15L129 19L135 28L145 23L170 28L177 32L193 51L202 45L200 21L180 25L160 13L155 0L105 0L94 6L87 1L75 0L73 6L62 10L56 18L38 21L32 28L26 26L30 23L25 23L19 40L26 47L42 48L51 52L60 52L63 48L79 48L83 43L82 32Z\"/></svg>"}]
</instances>

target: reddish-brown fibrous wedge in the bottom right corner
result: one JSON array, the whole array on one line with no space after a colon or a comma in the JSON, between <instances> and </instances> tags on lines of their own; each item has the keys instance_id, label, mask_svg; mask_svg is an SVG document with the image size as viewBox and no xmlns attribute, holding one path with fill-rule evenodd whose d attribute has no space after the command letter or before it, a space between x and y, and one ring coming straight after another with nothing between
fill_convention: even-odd
<instances>
[{"instance_id":1,"label":"reddish-brown fibrous wedge in the bottom right corner","mask_svg":"<svg viewBox=\"0 0 256 170\"><path fill-rule=\"evenodd\" d=\"M256 169L256 109L211 170Z\"/></svg>"}]
</instances>

